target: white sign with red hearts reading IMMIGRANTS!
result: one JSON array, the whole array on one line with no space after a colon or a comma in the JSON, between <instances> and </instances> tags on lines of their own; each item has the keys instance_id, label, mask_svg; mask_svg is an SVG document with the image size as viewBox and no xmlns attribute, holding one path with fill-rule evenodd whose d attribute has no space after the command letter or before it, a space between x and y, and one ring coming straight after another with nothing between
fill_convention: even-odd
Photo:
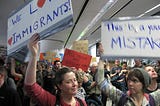
<instances>
[{"instance_id":1,"label":"white sign with red hearts reading IMMIGRANTS!","mask_svg":"<svg viewBox=\"0 0 160 106\"><path fill-rule=\"evenodd\" d=\"M34 33L44 39L72 24L71 0L32 0L8 18L7 54L26 46Z\"/></svg>"}]
</instances>

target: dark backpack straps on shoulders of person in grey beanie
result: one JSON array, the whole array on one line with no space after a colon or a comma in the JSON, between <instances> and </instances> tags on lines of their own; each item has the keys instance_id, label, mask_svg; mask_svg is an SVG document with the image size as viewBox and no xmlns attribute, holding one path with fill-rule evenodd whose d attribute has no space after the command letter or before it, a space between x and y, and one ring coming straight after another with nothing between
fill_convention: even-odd
<instances>
[{"instance_id":1,"label":"dark backpack straps on shoulders of person in grey beanie","mask_svg":"<svg viewBox=\"0 0 160 106\"><path fill-rule=\"evenodd\" d=\"M124 106L124 104L127 102L128 96L126 94L123 94L120 97L120 100L118 102L118 106ZM149 94L149 104L150 106L156 106L156 103L154 101L154 98Z\"/></svg>"}]
</instances>

